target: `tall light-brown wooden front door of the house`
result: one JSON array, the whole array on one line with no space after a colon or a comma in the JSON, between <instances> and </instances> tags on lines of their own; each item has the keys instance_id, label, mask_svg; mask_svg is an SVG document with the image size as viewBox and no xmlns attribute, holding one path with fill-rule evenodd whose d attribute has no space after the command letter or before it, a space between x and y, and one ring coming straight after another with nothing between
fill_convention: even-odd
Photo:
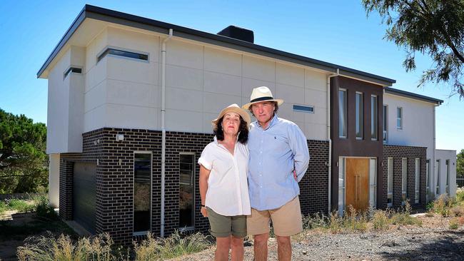
<instances>
[{"instance_id":1,"label":"tall light-brown wooden front door of the house","mask_svg":"<svg viewBox=\"0 0 464 261\"><path fill-rule=\"evenodd\" d=\"M358 211L369 206L369 159L346 158L346 210L352 205Z\"/></svg>"}]
</instances>

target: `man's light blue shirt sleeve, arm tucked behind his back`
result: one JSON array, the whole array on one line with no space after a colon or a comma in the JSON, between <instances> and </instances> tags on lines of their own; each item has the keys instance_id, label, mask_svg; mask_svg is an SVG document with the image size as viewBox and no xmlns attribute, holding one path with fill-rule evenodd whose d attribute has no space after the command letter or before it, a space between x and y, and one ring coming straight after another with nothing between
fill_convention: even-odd
<instances>
[{"instance_id":1,"label":"man's light blue shirt sleeve, arm tucked behind his back","mask_svg":"<svg viewBox=\"0 0 464 261\"><path fill-rule=\"evenodd\" d=\"M288 140L290 148L293 153L293 160L295 165L296 181L300 182L308 170L309 164L309 150L308 141L303 131L297 126L291 126L288 132Z\"/></svg>"}]
</instances>

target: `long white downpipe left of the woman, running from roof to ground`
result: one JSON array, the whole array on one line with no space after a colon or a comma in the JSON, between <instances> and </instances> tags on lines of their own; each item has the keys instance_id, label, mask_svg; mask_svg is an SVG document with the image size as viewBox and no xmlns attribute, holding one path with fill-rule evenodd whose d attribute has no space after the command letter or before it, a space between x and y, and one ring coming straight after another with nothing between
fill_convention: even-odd
<instances>
[{"instance_id":1,"label":"long white downpipe left of the woman, running from roof to ground","mask_svg":"<svg viewBox=\"0 0 464 261\"><path fill-rule=\"evenodd\" d=\"M164 126L166 113L166 42L171 39L172 35L173 30L169 29L169 36L163 40L163 46L161 47L161 237L164 237L164 181L166 172L166 128Z\"/></svg>"}]
</instances>

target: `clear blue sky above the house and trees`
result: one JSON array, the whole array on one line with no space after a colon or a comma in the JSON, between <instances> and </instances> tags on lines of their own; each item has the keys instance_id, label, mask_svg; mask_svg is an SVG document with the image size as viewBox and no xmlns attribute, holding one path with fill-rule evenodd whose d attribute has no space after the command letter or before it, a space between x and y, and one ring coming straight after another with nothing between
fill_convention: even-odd
<instances>
[{"instance_id":1,"label":"clear blue sky above the house and trees","mask_svg":"<svg viewBox=\"0 0 464 261\"><path fill-rule=\"evenodd\" d=\"M254 31L255 44L393 78L392 86L443 100L436 108L436 148L464 148L464 100L449 86L417 88L432 62L383 39L378 14L360 1L11 1L0 4L0 108L46 123L47 80L36 73L85 4L216 34L229 25Z\"/></svg>"}]
</instances>

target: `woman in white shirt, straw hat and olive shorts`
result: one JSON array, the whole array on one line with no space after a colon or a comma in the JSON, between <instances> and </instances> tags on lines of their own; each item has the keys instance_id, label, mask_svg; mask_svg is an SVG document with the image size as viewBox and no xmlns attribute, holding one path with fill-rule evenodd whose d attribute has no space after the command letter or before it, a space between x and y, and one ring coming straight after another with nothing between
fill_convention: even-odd
<instances>
[{"instance_id":1,"label":"woman in white shirt, straw hat and olive shorts","mask_svg":"<svg viewBox=\"0 0 464 261\"><path fill-rule=\"evenodd\" d=\"M212 121L214 141L206 145L200 164L201 213L208 217L216 237L215 260L243 260L248 197L248 127L251 118L236 104L224 108Z\"/></svg>"}]
</instances>

